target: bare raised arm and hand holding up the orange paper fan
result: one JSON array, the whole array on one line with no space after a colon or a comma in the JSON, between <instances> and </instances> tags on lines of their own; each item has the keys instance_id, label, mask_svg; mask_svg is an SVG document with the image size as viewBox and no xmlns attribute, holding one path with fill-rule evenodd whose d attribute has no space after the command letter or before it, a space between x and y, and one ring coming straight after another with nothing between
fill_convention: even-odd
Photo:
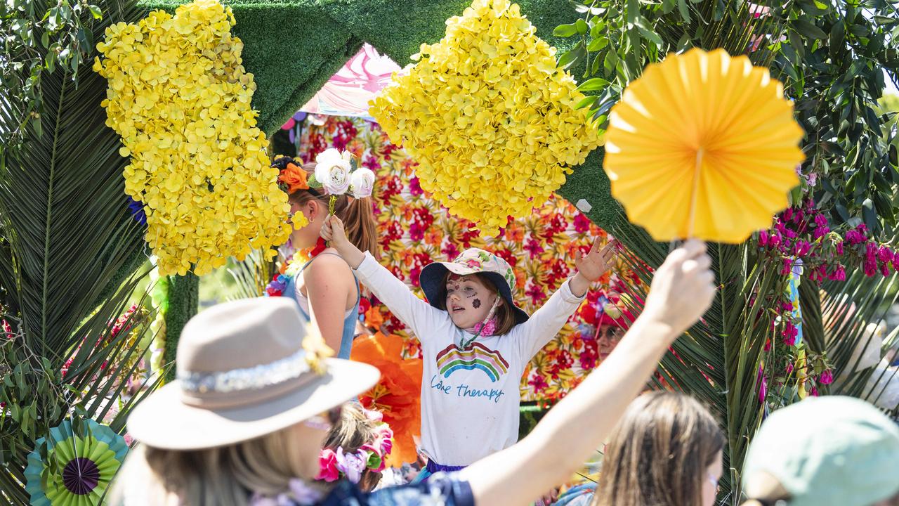
<instances>
[{"instance_id":1,"label":"bare raised arm and hand holding up the orange paper fan","mask_svg":"<svg viewBox=\"0 0 899 506\"><path fill-rule=\"evenodd\" d=\"M655 272L645 309L618 347L527 438L460 471L477 504L527 504L574 471L609 436L658 361L708 309L715 276L691 239Z\"/></svg>"}]
</instances>

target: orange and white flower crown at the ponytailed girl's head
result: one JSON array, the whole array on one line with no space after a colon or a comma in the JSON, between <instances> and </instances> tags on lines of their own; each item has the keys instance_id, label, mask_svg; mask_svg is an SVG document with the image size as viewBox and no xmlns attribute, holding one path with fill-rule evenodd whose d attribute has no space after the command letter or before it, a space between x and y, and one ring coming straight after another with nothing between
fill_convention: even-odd
<instances>
[{"instance_id":1,"label":"orange and white flower crown at the ponytailed girl's head","mask_svg":"<svg viewBox=\"0 0 899 506\"><path fill-rule=\"evenodd\" d=\"M293 158L276 158L271 167L278 167L278 186L288 194L308 190L316 196L316 190L324 189L332 201L337 195L352 194L355 198L371 196L375 185L375 173L367 167L359 167L350 151L325 149L316 156L316 170L310 176Z\"/></svg>"}]
</instances>

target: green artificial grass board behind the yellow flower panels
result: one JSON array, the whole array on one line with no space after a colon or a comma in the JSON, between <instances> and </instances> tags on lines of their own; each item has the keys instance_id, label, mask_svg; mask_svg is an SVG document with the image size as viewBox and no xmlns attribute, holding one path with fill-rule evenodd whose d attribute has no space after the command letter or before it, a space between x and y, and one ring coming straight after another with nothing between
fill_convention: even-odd
<instances>
[{"instance_id":1,"label":"green artificial grass board behind the yellow flower panels","mask_svg":"<svg viewBox=\"0 0 899 506\"><path fill-rule=\"evenodd\" d=\"M149 9L174 12L178 0L148 0ZM244 67L254 74L253 106L258 126L271 135L325 85L363 41L394 59L409 63L423 43L440 41L446 20L460 15L468 0L224 0L234 12L234 34L244 41ZM553 36L559 24L580 14L564 0L521 0L521 13L537 27L537 35L556 46L557 56L576 38ZM572 69L575 77L581 68ZM618 203L610 195L601 170L601 150L574 169L559 194L572 203L586 199L587 216L603 228L619 224Z\"/></svg>"}]
</instances>

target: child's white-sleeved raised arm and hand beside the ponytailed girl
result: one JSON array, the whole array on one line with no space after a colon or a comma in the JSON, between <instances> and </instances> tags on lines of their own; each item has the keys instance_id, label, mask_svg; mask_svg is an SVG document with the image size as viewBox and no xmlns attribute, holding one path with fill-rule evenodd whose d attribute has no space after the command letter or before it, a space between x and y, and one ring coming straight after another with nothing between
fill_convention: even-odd
<instances>
[{"instance_id":1,"label":"child's white-sleeved raised arm and hand beside the ponytailed girl","mask_svg":"<svg viewBox=\"0 0 899 506\"><path fill-rule=\"evenodd\" d=\"M333 214L325 218L321 235L322 239L327 240L352 267L362 284L387 305L387 309L393 312L396 318L411 327L419 340L423 340L423 336L427 336L439 325L449 321L447 312L432 307L431 304L416 297L405 283L378 264L378 260L356 248L350 239L347 239L340 218Z\"/></svg>"}]
</instances>

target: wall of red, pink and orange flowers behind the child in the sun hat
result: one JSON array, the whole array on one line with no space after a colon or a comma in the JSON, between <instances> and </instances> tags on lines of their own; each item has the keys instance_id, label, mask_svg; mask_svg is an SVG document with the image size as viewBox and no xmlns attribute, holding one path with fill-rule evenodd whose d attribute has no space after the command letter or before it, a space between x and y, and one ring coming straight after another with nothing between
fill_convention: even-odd
<instances>
[{"instance_id":1,"label":"wall of red, pink and orange flowers behind the child in the sun hat","mask_svg":"<svg viewBox=\"0 0 899 506\"><path fill-rule=\"evenodd\" d=\"M473 223L450 216L425 194L415 176L415 162L387 139L377 123L358 118L314 116L301 124L285 125L306 161L327 148L349 149L378 175L374 197L380 237L380 262L419 296L418 276L435 260L455 258L465 248L485 248L514 268L516 301L532 313L574 272L574 251L589 248L592 239L606 233L592 224L574 205L553 196L533 214L510 221L495 238L482 237ZM616 284L636 283L627 267L611 273ZM613 281L601 279L581 308L531 360L521 380L524 401L555 401L580 383L601 361L596 339L600 320L600 294ZM420 348L411 331L373 297L362 301L360 312L370 329L403 337L405 357L418 357Z\"/></svg>"}]
</instances>

